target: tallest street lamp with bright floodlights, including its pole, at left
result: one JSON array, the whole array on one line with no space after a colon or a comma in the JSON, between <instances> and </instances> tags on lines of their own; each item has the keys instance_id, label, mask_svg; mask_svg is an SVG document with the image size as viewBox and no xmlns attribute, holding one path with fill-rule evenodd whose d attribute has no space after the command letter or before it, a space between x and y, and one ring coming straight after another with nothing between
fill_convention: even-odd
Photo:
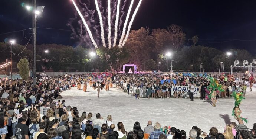
<instances>
[{"instance_id":1,"label":"tallest street lamp with bright floodlights, including its pole, at left","mask_svg":"<svg viewBox=\"0 0 256 139\"><path fill-rule=\"evenodd\" d=\"M33 60L33 86L36 85L36 20L37 20L37 14L40 14L43 12L43 9L45 6L36 6L36 0L34 0L34 6L32 9L32 6L26 6L26 9L28 11L33 11L35 15L33 16L33 52L34 52L34 60Z\"/></svg>"}]
</instances>

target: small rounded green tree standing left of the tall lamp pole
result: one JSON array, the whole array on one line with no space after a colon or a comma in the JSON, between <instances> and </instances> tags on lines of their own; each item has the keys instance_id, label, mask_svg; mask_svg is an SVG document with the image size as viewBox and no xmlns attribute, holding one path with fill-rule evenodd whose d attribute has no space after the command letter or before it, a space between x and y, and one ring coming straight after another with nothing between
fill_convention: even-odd
<instances>
[{"instance_id":1,"label":"small rounded green tree standing left of the tall lamp pole","mask_svg":"<svg viewBox=\"0 0 256 139\"><path fill-rule=\"evenodd\" d=\"M19 69L19 73L22 79L26 80L29 77L29 62L27 61L27 59L20 59L17 67Z\"/></svg>"}]
</instances>

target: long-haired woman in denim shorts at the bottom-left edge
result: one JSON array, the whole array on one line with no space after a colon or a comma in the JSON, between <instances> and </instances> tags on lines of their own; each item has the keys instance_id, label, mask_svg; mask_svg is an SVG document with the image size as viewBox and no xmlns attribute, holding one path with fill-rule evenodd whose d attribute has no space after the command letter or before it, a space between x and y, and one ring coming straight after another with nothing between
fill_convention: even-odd
<instances>
[{"instance_id":1,"label":"long-haired woman in denim shorts at the bottom-left edge","mask_svg":"<svg viewBox=\"0 0 256 139\"><path fill-rule=\"evenodd\" d=\"M2 139L5 139L6 134L8 133L7 131L7 126L8 125L8 117L4 116L4 110L0 111L0 135L2 135Z\"/></svg>"}]
</instances>

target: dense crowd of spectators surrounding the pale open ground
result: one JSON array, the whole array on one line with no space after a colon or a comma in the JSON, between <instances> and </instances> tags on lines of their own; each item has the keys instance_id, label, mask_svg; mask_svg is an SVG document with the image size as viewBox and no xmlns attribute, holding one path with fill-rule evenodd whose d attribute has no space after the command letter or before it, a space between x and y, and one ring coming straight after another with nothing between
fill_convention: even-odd
<instances>
[{"instance_id":1,"label":"dense crowd of spectators surrounding the pale open ground","mask_svg":"<svg viewBox=\"0 0 256 139\"><path fill-rule=\"evenodd\" d=\"M225 89L227 94L221 92L218 94L220 98L230 97L230 87L232 90L244 90L243 82L240 87L240 84L234 82L233 79L225 81L223 76L211 76L218 79L223 87L227 87ZM157 83L161 79L176 80L176 84L173 81ZM236 125L235 122L226 125L224 133L219 133L216 128L212 127L207 134L197 126L193 126L186 133L175 127L161 126L158 122L153 125L151 121L148 121L144 130L139 122L135 122L133 130L128 132L125 131L122 122L114 125L111 115L103 119L98 113L94 118L91 112L84 111L79 116L76 107L66 106L65 100L59 100L62 98L62 91L75 87L79 81L99 80L105 84L109 81L116 83L128 94L131 87L141 88L142 97L148 98L170 98L172 95L169 89L173 86L201 86L200 88L206 89L209 84L207 77L179 74L66 74L58 77L39 77L36 86L32 86L31 81L23 80L21 83L19 81L12 83L12 81L2 79L0 82L0 134L2 139L252 139L256 136L256 123L253 129L249 130L246 125ZM200 89L201 99L205 98L206 90L204 89ZM135 93L138 92L135 91ZM174 97L180 98L180 96L181 94L177 93Z\"/></svg>"}]
</instances>

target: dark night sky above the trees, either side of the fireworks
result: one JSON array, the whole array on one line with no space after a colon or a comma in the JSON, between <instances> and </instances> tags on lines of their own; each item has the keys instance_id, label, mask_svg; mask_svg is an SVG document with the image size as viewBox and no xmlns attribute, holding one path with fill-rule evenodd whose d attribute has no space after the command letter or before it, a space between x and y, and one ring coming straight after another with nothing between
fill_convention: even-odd
<instances>
[{"instance_id":1,"label":"dark night sky above the trees, either side of the fireworks","mask_svg":"<svg viewBox=\"0 0 256 139\"><path fill-rule=\"evenodd\" d=\"M32 4L32 0L0 0L0 42L16 38L17 43L26 44L30 38L30 30L2 34L32 27L32 14L21 6L22 2ZM37 0L37 6L45 6L37 27L68 30L37 29L37 43L75 46L75 41L70 39L72 31L66 25L69 18L74 17L71 1ZM188 39L197 35L198 45L223 51L246 49L256 54L255 0L143 0L132 30L146 26L167 28L170 24L183 27L187 38L185 45L191 45Z\"/></svg>"}]
</instances>

